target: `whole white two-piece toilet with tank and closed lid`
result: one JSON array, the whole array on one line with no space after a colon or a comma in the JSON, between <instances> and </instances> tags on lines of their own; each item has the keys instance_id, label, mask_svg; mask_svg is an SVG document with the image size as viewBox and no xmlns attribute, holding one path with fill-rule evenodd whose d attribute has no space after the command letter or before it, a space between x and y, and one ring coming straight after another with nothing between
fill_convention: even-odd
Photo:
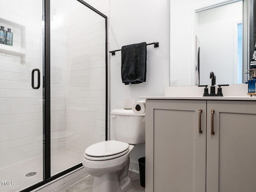
<instances>
[{"instance_id":1,"label":"whole white two-piece toilet with tank and closed lid","mask_svg":"<svg viewBox=\"0 0 256 192\"><path fill-rule=\"evenodd\" d=\"M145 142L145 115L132 110L111 111L116 140L98 142L86 148L82 164L94 176L93 192L123 192L130 184L128 177L130 151Z\"/></svg>"}]
</instances>

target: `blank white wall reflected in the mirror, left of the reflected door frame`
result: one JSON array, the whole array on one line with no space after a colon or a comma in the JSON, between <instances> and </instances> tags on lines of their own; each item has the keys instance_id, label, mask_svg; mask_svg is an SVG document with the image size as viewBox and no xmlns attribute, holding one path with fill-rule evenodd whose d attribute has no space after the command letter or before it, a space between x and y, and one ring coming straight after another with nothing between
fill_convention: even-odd
<instances>
[{"instance_id":1,"label":"blank white wall reflected in the mirror, left of the reflected door frame","mask_svg":"<svg viewBox=\"0 0 256 192\"><path fill-rule=\"evenodd\" d=\"M194 85L194 10L225 1L170 0L170 79L177 79L178 86Z\"/></svg>"}]
</instances>

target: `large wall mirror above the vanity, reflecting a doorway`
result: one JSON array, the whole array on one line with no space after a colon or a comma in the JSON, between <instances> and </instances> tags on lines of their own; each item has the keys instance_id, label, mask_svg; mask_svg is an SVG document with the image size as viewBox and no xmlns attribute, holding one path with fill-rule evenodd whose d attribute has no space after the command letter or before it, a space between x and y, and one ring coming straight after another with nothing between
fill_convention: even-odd
<instances>
[{"instance_id":1,"label":"large wall mirror above the vanity, reflecting a doorway","mask_svg":"<svg viewBox=\"0 0 256 192\"><path fill-rule=\"evenodd\" d=\"M171 0L170 82L210 84L211 71L216 84L247 81L249 2Z\"/></svg>"}]
</instances>

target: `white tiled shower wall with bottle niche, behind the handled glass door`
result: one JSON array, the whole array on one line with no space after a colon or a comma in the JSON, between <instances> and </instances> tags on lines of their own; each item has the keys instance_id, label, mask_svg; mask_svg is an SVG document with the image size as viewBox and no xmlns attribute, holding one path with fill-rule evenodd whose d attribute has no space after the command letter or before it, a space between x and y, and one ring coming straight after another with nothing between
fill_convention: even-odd
<instances>
[{"instance_id":1,"label":"white tiled shower wall with bottle niche, behind the handled glass door","mask_svg":"<svg viewBox=\"0 0 256 192\"><path fill-rule=\"evenodd\" d=\"M0 168L42 154L42 0L0 0L0 25L13 32L13 47L0 44Z\"/></svg>"}]
</instances>

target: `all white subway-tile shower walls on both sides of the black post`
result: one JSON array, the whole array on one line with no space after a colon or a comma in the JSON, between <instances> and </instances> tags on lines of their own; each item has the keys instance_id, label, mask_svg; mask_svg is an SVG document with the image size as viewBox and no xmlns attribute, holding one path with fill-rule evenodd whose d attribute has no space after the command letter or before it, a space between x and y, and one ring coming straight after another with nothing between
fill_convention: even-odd
<instances>
[{"instance_id":1,"label":"all white subway-tile shower walls on both sides of the black post","mask_svg":"<svg viewBox=\"0 0 256 192\"><path fill-rule=\"evenodd\" d=\"M108 16L109 0L86 2ZM0 4L0 25L12 29L13 48L21 48L17 55L0 45L2 168L42 155L42 78L39 90L31 88L32 70L42 76L42 0ZM105 140L105 22L85 7L69 13L63 0L52 8L51 147L83 151Z\"/></svg>"}]
</instances>

